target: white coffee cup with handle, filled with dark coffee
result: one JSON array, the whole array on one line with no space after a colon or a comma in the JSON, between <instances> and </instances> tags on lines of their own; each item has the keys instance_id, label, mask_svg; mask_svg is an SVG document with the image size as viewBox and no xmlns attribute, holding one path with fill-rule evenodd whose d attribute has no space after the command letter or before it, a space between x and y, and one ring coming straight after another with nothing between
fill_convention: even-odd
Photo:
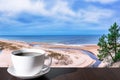
<instances>
[{"instance_id":1,"label":"white coffee cup with handle, filled with dark coffee","mask_svg":"<svg viewBox=\"0 0 120 80\"><path fill-rule=\"evenodd\" d=\"M12 52L11 58L15 73L19 76L35 75L42 70L46 70L52 63L51 57L47 56L45 51L40 49L16 50ZM43 68L45 60L48 61L47 68Z\"/></svg>"}]
</instances>

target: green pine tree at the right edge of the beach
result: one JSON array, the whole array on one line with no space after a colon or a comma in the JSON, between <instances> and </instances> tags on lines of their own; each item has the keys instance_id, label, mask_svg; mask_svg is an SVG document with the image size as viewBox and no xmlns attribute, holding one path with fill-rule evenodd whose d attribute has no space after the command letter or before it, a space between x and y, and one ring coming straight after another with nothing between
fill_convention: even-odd
<instances>
[{"instance_id":1,"label":"green pine tree at the right edge of the beach","mask_svg":"<svg viewBox=\"0 0 120 80\"><path fill-rule=\"evenodd\" d=\"M117 25L117 23L114 23L110 27L109 33L107 35L102 35L99 38L98 46L100 48L98 49L98 51L100 54L98 55L98 57L100 60L103 60L108 55L111 56L114 62L120 60L119 31L119 26Z\"/></svg>"}]
</instances>

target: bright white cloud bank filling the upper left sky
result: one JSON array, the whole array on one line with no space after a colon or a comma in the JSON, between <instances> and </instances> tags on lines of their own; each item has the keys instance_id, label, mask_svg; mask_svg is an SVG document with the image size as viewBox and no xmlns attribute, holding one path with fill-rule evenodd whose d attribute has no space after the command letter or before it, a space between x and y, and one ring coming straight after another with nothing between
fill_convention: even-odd
<instances>
[{"instance_id":1,"label":"bright white cloud bank filling the upper left sky","mask_svg":"<svg viewBox=\"0 0 120 80\"><path fill-rule=\"evenodd\" d=\"M29 12L40 15L70 15L73 16L74 12L69 8L68 2L57 0L55 4L48 10L46 9L47 3L43 0L1 0L0 12L6 13L7 16L12 16L21 12Z\"/></svg>"}]
</instances>

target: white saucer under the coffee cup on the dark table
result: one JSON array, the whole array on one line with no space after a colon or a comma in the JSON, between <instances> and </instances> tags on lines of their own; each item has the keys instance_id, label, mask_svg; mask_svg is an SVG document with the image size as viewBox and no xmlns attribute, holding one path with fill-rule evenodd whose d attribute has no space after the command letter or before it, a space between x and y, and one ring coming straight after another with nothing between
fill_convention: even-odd
<instances>
[{"instance_id":1,"label":"white saucer under the coffee cup on the dark table","mask_svg":"<svg viewBox=\"0 0 120 80\"><path fill-rule=\"evenodd\" d=\"M12 76L15 76L15 77L18 77L18 78L21 78L21 79L33 79L33 78L40 77L40 76L42 76L42 75L44 75L44 74L46 74L46 73L48 73L48 72L50 71L50 67L44 65L44 68L45 68L45 67L48 68L48 69L45 70L45 71L40 71L40 72L37 73L36 75L32 75L32 76L19 76L19 75L16 75L13 66L8 67L7 72L8 72L9 74L11 74Z\"/></svg>"}]
</instances>

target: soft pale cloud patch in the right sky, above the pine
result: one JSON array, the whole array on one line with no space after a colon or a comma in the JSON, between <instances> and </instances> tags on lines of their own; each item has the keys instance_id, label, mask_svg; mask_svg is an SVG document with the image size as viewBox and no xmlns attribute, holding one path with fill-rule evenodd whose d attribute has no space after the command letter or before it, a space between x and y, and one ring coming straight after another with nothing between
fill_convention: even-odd
<instances>
[{"instance_id":1,"label":"soft pale cloud patch in the right sky, above the pine","mask_svg":"<svg viewBox=\"0 0 120 80\"><path fill-rule=\"evenodd\" d=\"M104 8L97 8L95 6L89 6L86 9L80 9L79 15L84 22L99 22L102 19L110 18L114 14L114 11Z\"/></svg>"}]
</instances>

